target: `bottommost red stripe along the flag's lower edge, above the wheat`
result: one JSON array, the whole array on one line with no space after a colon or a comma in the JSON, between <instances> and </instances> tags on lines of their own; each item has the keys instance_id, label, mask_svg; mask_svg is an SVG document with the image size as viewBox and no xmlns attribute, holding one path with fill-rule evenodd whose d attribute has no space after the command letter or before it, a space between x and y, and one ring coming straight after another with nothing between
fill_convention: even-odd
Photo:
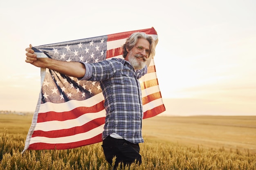
<instances>
[{"instance_id":1,"label":"bottommost red stripe along the flag's lower edge, above the wheat","mask_svg":"<svg viewBox=\"0 0 256 170\"><path fill-rule=\"evenodd\" d=\"M85 145L90 145L90 144L96 144L98 142L101 142L101 134L92 137L91 139L86 139L83 141L77 141L77 142L71 142L67 144L47 144L47 143L35 143L35 144L30 144L28 150L45 150L45 149L72 149L72 148L78 148L81 146Z\"/></svg>"}]
</instances>

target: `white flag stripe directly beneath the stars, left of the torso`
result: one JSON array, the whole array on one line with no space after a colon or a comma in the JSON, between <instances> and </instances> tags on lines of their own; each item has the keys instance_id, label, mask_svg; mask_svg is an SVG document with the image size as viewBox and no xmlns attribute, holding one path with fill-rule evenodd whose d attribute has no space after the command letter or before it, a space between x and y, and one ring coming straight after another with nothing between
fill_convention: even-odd
<instances>
[{"instance_id":1,"label":"white flag stripe directly beneath the stars, left of the torso","mask_svg":"<svg viewBox=\"0 0 256 170\"><path fill-rule=\"evenodd\" d=\"M99 93L97 95L94 95L86 100L70 100L65 103L51 103L46 102L44 104L41 104L39 113L45 113L54 110L55 112L63 112L63 111L70 111L77 107L91 107L95 104L98 104L99 102L102 102L104 100L103 94Z\"/></svg>"}]
</instances>

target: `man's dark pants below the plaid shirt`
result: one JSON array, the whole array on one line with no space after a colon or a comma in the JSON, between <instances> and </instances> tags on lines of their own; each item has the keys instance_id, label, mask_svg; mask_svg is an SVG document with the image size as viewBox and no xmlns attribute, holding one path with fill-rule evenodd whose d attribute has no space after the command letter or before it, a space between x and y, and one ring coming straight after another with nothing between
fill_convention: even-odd
<instances>
[{"instance_id":1,"label":"man's dark pants below the plaid shirt","mask_svg":"<svg viewBox=\"0 0 256 170\"><path fill-rule=\"evenodd\" d=\"M112 165L113 157L116 157L115 166L116 169L118 163L124 163L129 165L133 162L141 164L141 155L139 154L139 144L132 144L125 139L116 139L113 137L106 137L102 144L103 152L106 160Z\"/></svg>"}]
</instances>

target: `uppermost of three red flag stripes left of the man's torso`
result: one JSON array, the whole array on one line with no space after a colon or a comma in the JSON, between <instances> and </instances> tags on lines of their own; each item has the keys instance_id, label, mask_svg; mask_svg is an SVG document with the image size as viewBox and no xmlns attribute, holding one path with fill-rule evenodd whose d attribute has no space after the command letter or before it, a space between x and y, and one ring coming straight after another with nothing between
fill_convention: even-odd
<instances>
[{"instance_id":1,"label":"uppermost of three red flag stripes left of the man's torso","mask_svg":"<svg viewBox=\"0 0 256 170\"><path fill-rule=\"evenodd\" d=\"M45 121L65 121L70 119L76 119L86 113L97 113L104 109L104 101L95 104L92 107L77 107L70 111L64 111L61 113L50 111L46 113L38 113L37 123Z\"/></svg>"}]
</instances>

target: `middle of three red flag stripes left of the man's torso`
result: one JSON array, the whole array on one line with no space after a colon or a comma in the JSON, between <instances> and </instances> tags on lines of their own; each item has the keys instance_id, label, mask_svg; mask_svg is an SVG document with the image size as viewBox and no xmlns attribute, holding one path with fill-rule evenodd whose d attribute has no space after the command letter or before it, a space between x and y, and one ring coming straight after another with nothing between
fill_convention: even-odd
<instances>
[{"instance_id":1,"label":"middle of three red flag stripes left of the man's torso","mask_svg":"<svg viewBox=\"0 0 256 170\"><path fill-rule=\"evenodd\" d=\"M97 128L101 125L105 124L105 117L100 117L89 121L88 123L84 124L83 126L76 126L69 129L61 129L61 130L51 130L51 131L42 131L42 130L35 130L32 137L49 137L49 138L56 138L56 137L65 137L65 136L72 136L79 133L88 132L94 128ZM74 125L75 126L75 125Z\"/></svg>"}]
</instances>

